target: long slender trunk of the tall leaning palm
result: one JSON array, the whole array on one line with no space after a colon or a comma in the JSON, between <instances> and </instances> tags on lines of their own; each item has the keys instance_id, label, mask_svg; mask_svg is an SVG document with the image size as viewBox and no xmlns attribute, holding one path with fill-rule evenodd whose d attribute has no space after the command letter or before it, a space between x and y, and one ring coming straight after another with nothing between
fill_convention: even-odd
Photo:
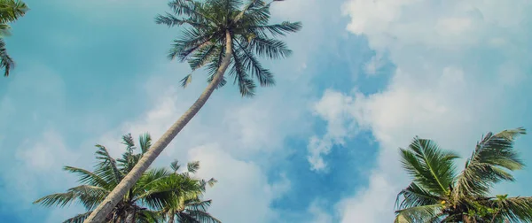
<instances>
[{"instance_id":1,"label":"long slender trunk of the tall leaning palm","mask_svg":"<svg viewBox=\"0 0 532 223\"><path fill-rule=\"evenodd\" d=\"M211 81L207 88L201 93L200 97L192 104L192 106L184 112L181 118L168 128L166 133L160 137L160 139L153 144L153 146L142 156L137 165L124 177L123 180L113 188L113 191L106 196L106 199L98 205L98 207L92 211L89 218L85 219L83 223L102 223L106 218L106 215L111 212L116 204L118 204L122 197L128 192L129 188L132 188L137 183L140 176L152 165L155 158L157 158L170 143L176 135L183 129L184 126L200 111L201 107L207 102L207 99L213 94L215 88L223 79L223 73L231 63L232 55L232 41L229 31L225 33L225 57L222 59L222 63L215 73L213 81Z\"/></svg>"}]
</instances>

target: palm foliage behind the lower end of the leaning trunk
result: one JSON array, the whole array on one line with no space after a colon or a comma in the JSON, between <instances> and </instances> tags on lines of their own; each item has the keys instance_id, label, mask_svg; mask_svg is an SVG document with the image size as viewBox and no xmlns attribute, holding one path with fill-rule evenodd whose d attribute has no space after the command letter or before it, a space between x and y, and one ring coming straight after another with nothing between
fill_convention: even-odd
<instances>
[{"instance_id":1,"label":"palm foliage behind the lower end of the leaning trunk","mask_svg":"<svg viewBox=\"0 0 532 223\"><path fill-rule=\"evenodd\" d=\"M82 204L87 212L64 221L82 222L137 164L152 143L150 135L141 135L139 140L140 152L136 153L137 147L131 135L124 135L122 140L127 146L122 158L112 158L106 147L97 145L98 164L93 172L73 166L64 167L64 170L76 173L80 177L79 182L82 185L69 188L65 193L43 196L34 204L59 207L74 202ZM199 163L192 162L189 166L191 166L189 172L194 172L199 168ZM215 180L211 179L210 181ZM180 201L203 202L200 200L200 196L205 191L205 182L194 179L187 174L177 174L167 168L150 169L141 176L135 187L131 188L121 202L114 207L107 216L106 222L163 222L166 216L165 210L175 207L176 204L182 204L183 202L180 203ZM210 201L208 202L210 204ZM203 213L210 216L206 209ZM192 219L194 219L193 217L196 216L192 216Z\"/></svg>"}]
</instances>

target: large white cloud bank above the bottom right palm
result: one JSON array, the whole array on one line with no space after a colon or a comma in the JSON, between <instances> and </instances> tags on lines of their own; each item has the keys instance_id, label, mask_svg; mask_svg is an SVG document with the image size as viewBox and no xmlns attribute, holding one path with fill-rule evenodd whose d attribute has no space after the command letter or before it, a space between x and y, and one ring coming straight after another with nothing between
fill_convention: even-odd
<instances>
[{"instance_id":1,"label":"large white cloud bank above the bottom right palm","mask_svg":"<svg viewBox=\"0 0 532 223\"><path fill-rule=\"evenodd\" d=\"M483 133L522 125L523 114L512 104L515 90L529 83L524 73L530 53L518 49L530 46L525 20L531 6L496 0L349 0L344 5L348 30L366 35L374 50L386 51L397 70L379 93L327 91L317 103L336 104L324 106L320 115L330 126L369 129L379 142L369 185L340 203L342 222L394 218L395 195L408 180L397 148L413 136L432 138L465 157ZM325 135L341 133L329 128Z\"/></svg>"}]
</instances>

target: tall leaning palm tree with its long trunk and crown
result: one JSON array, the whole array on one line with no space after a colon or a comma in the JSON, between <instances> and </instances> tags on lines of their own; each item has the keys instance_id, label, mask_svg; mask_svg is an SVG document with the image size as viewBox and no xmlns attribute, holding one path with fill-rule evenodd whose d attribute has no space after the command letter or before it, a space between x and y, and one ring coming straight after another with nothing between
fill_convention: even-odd
<instances>
[{"instance_id":1,"label":"tall leaning palm tree with its long trunk and crown","mask_svg":"<svg viewBox=\"0 0 532 223\"><path fill-rule=\"evenodd\" d=\"M273 0L277 2L281 0ZM272 3L270 2L270 4ZM85 221L101 222L118 204L129 188L141 177L183 127L200 111L215 88L226 83L223 76L231 66L230 76L238 84L242 96L253 96L256 87L275 84L273 74L264 68L259 58L285 58L290 55L285 42L274 39L279 35L297 32L300 22L282 22L270 25L270 4L262 0L173 0L169 3L172 13L159 15L157 23L168 27L183 27L183 35L174 41L169 58L188 61L192 72L207 68L209 84L188 111L155 142L133 170L113 189L102 204ZM182 84L192 81L187 75Z\"/></svg>"}]
</instances>

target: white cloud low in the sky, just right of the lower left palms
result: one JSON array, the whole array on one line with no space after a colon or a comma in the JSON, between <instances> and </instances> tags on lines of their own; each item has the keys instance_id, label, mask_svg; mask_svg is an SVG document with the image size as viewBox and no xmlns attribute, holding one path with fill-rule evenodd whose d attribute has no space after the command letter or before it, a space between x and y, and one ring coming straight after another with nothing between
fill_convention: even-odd
<instances>
[{"instance_id":1,"label":"white cloud low in the sky, just right of the lower left palms","mask_svg":"<svg viewBox=\"0 0 532 223\"><path fill-rule=\"evenodd\" d=\"M260 166L232 158L215 144L189 150L190 160L200 160L198 176L215 177L218 183L208 188L206 197L213 199L209 209L227 222L272 222L270 202L289 188L289 181L270 184Z\"/></svg>"}]
</instances>

